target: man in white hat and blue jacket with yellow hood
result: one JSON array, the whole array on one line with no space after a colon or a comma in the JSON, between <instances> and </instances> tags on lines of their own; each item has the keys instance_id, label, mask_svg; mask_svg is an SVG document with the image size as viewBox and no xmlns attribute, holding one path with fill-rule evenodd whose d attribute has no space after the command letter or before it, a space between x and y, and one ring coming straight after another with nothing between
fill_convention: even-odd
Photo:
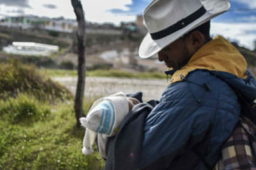
<instances>
[{"instance_id":1,"label":"man in white hat and blue jacket with yellow hood","mask_svg":"<svg viewBox=\"0 0 256 170\"><path fill-rule=\"evenodd\" d=\"M244 57L223 37L210 38L210 19L229 8L228 0L156 0L146 8L139 55L158 53L172 78L145 120L139 169L212 169L239 120L235 91L255 100Z\"/></svg>"}]
</instances>

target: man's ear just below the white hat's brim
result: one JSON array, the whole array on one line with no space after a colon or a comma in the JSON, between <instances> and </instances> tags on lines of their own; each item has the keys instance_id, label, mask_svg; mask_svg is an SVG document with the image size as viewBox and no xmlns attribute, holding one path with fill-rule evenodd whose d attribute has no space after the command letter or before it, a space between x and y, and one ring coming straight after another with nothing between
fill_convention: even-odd
<instances>
[{"instance_id":1,"label":"man's ear just below the white hat's brim","mask_svg":"<svg viewBox=\"0 0 256 170\"><path fill-rule=\"evenodd\" d=\"M198 50L205 44L205 35L200 31L195 30L190 34L190 42L192 43L194 50Z\"/></svg>"}]
</instances>

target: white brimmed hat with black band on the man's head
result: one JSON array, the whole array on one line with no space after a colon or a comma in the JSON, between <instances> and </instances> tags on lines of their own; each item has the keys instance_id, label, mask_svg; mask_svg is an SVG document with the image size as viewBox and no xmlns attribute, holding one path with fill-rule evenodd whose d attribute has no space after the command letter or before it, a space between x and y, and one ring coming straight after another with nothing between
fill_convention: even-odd
<instances>
[{"instance_id":1,"label":"white brimmed hat with black band on the man's head","mask_svg":"<svg viewBox=\"0 0 256 170\"><path fill-rule=\"evenodd\" d=\"M154 0L143 13L148 33L139 56L153 56L183 34L230 8L228 0Z\"/></svg>"}]
</instances>

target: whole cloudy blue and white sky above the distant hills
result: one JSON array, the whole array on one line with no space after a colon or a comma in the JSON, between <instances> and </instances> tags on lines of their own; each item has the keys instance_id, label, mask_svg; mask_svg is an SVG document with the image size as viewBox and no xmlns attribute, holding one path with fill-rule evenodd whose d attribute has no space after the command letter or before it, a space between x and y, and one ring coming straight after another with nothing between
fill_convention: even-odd
<instances>
[{"instance_id":1,"label":"whole cloudy blue and white sky above the distant hills","mask_svg":"<svg viewBox=\"0 0 256 170\"><path fill-rule=\"evenodd\" d=\"M81 0L87 21L118 25L135 21L152 0ZM256 40L256 0L230 0L228 12L211 23L211 34L221 34L239 45L254 49ZM0 0L0 19L34 14L40 17L75 19L71 0Z\"/></svg>"}]
</instances>

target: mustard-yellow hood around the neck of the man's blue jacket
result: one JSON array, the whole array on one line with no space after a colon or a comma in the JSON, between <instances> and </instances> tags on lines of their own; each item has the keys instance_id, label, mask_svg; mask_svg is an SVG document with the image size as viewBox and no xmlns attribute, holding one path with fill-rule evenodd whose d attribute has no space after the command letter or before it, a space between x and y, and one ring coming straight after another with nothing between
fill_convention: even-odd
<instances>
[{"instance_id":1,"label":"mustard-yellow hood around the neck of the man's blue jacket","mask_svg":"<svg viewBox=\"0 0 256 170\"><path fill-rule=\"evenodd\" d=\"M247 63L244 56L222 36L216 36L201 47L188 61L173 75L170 83L182 81L190 72L199 70L214 70L229 72L240 78L246 78Z\"/></svg>"}]
</instances>

